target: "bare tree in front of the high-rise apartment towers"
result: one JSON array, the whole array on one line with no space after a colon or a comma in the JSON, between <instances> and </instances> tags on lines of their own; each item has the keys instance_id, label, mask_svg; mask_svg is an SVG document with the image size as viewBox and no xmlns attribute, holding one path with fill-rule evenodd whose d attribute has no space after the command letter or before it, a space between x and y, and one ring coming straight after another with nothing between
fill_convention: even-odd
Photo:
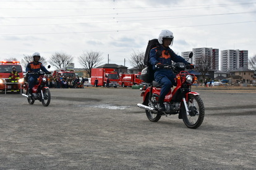
<instances>
[{"instance_id":1,"label":"bare tree in front of the high-rise apartment towers","mask_svg":"<svg viewBox=\"0 0 256 170\"><path fill-rule=\"evenodd\" d=\"M195 65L199 73L201 73L203 79L205 79L206 74L211 69L212 65L212 57L206 57L202 55L202 57L198 57L195 59Z\"/></svg>"}]
</instances>

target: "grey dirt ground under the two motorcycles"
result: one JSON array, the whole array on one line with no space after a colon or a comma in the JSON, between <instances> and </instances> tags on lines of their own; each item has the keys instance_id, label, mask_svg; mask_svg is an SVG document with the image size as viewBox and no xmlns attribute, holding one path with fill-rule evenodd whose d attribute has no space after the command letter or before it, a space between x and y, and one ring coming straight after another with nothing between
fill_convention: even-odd
<instances>
[{"instance_id":1,"label":"grey dirt ground under the two motorcycles","mask_svg":"<svg viewBox=\"0 0 256 170\"><path fill-rule=\"evenodd\" d=\"M255 169L256 88L194 88L205 119L147 119L129 87L51 89L48 107L0 94L0 169Z\"/></svg>"}]
</instances>

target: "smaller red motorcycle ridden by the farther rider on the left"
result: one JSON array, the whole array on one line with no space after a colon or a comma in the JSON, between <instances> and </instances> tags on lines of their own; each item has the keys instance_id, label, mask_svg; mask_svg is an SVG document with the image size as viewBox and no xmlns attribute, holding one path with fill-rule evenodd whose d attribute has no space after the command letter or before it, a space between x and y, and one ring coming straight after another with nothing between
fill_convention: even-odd
<instances>
[{"instance_id":1,"label":"smaller red motorcycle ridden by the farther rider on the left","mask_svg":"<svg viewBox=\"0 0 256 170\"><path fill-rule=\"evenodd\" d=\"M28 73L28 75L39 75L39 78L36 80L35 86L32 88L32 97L28 97L28 83L24 84L26 94L22 95L27 97L30 105L33 105L35 100L39 100L42 102L43 106L47 107L51 102L51 92L49 91L49 87L46 86L46 84L48 84L48 78L45 76L43 71L38 71L37 73Z\"/></svg>"}]
</instances>

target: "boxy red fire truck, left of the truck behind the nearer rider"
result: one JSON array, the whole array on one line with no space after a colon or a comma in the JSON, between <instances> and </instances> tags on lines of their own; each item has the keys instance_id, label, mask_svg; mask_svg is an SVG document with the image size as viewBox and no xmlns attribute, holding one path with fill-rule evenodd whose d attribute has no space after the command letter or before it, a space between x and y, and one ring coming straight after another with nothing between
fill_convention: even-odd
<instances>
[{"instance_id":1,"label":"boxy red fire truck, left of the truck behind the nearer rider","mask_svg":"<svg viewBox=\"0 0 256 170\"><path fill-rule=\"evenodd\" d=\"M109 87L117 87L119 75L114 68L92 68L91 84L94 86L95 79L98 79L98 86L106 87L109 79Z\"/></svg>"}]
</instances>

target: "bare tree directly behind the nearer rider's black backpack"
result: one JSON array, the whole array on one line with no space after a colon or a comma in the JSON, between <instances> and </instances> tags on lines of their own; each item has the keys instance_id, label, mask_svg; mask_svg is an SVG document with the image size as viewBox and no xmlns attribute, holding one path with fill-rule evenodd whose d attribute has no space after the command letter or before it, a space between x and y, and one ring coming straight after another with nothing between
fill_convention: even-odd
<instances>
[{"instance_id":1,"label":"bare tree directly behind the nearer rider's black backpack","mask_svg":"<svg viewBox=\"0 0 256 170\"><path fill-rule=\"evenodd\" d=\"M142 71L143 68L146 67L144 64L144 57L145 57L145 52L135 52L131 54L131 58L129 59L129 62L132 64L132 66L137 67L139 71Z\"/></svg>"}]
</instances>

